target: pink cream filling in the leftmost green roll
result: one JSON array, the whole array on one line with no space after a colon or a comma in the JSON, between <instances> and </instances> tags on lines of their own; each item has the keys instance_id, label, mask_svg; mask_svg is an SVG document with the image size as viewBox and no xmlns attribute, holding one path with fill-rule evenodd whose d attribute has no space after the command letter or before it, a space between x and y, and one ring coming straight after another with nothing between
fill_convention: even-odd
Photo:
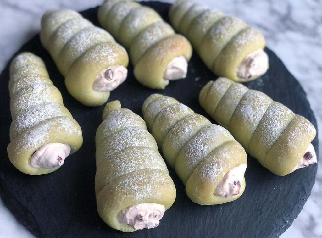
<instances>
[{"instance_id":1,"label":"pink cream filling in the leftmost green roll","mask_svg":"<svg viewBox=\"0 0 322 238\"><path fill-rule=\"evenodd\" d=\"M50 143L35 150L29 158L29 165L33 168L61 167L64 160L71 153L71 147L62 143Z\"/></svg>"}]
</instances>

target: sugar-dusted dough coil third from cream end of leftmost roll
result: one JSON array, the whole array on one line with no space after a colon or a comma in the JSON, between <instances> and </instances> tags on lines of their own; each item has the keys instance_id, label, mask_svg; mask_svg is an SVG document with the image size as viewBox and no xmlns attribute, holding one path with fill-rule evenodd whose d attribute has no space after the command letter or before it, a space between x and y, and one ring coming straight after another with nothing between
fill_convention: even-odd
<instances>
[{"instance_id":1,"label":"sugar-dusted dough coil third from cream end of leftmost roll","mask_svg":"<svg viewBox=\"0 0 322 238\"><path fill-rule=\"evenodd\" d=\"M52 96L53 91L58 89L50 84L38 83L20 90L14 98L12 98L12 109L14 115L24 108L30 108L34 105L47 102L57 102L62 104L62 96L56 98ZM58 91L59 92L59 91Z\"/></svg>"}]
</instances>

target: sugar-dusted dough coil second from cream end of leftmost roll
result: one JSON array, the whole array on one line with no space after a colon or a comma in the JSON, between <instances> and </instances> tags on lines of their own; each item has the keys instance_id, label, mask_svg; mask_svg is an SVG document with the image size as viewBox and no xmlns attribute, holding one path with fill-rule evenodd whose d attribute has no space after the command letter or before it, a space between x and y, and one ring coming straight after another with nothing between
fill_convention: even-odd
<instances>
[{"instance_id":1,"label":"sugar-dusted dough coil second from cream end of leftmost roll","mask_svg":"<svg viewBox=\"0 0 322 238\"><path fill-rule=\"evenodd\" d=\"M63 113L63 106L58 103L46 103L23 109L12 121L14 137L38 123L58 116L69 116Z\"/></svg>"}]
</instances>

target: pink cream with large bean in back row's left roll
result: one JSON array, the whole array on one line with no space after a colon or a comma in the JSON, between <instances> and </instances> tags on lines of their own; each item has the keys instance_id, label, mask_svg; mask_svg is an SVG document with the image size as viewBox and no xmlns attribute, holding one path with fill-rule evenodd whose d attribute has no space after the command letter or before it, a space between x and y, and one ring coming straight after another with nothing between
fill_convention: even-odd
<instances>
[{"instance_id":1,"label":"pink cream with large bean in back row's left roll","mask_svg":"<svg viewBox=\"0 0 322 238\"><path fill-rule=\"evenodd\" d=\"M122 65L113 65L103 69L96 76L93 90L99 92L112 91L126 80L128 69Z\"/></svg>"}]
</instances>

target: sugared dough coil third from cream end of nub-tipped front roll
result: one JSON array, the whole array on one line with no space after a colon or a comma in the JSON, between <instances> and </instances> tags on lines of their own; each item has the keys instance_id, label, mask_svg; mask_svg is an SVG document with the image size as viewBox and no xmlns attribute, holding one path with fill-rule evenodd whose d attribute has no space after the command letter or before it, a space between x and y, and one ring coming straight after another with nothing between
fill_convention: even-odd
<instances>
[{"instance_id":1,"label":"sugared dough coil third from cream end of nub-tipped front roll","mask_svg":"<svg viewBox=\"0 0 322 238\"><path fill-rule=\"evenodd\" d=\"M140 127L127 127L106 138L99 146L105 147L104 158L132 146L145 146L157 149L153 136Z\"/></svg>"}]
</instances>

